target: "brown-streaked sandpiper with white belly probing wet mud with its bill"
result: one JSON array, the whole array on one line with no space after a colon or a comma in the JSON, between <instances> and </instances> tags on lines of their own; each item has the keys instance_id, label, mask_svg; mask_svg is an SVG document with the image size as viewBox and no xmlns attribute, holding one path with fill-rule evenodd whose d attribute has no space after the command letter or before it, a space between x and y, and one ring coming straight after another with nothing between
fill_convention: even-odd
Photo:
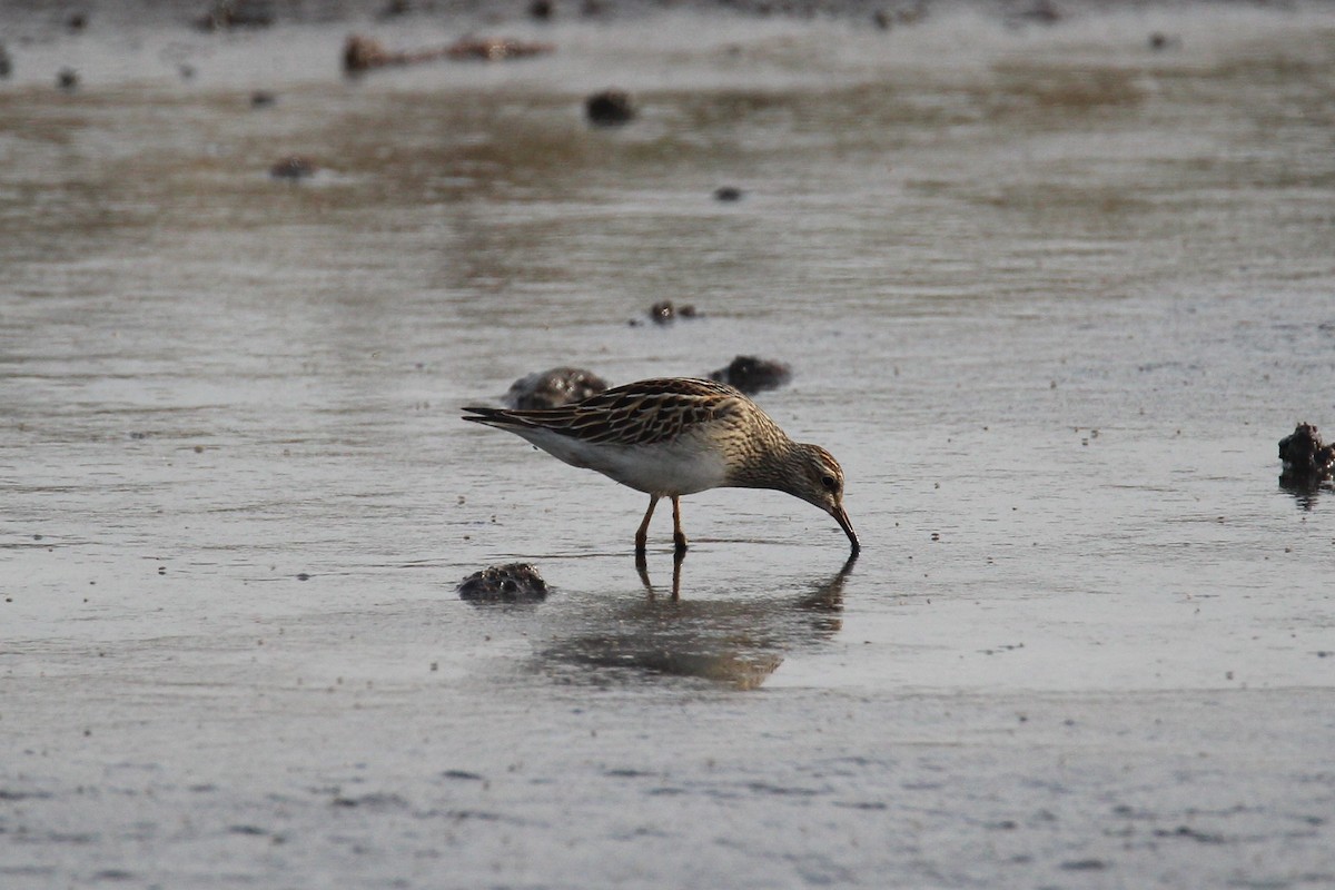
<instances>
[{"instance_id":1,"label":"brown-streaked sandpiper with white belly probing wet mud with its bill","mask_svg":"<svg viewBox=\"0 0 1335 890\"><path fill-rule=\"evenodd\" d=\"M833 516L853 552L860 550L844 511L844 471L833 455L793 442L760 406L724 383L662 378L559 408L465 411L465 420L509 430L574 467L646 492L649 508L635 532L638 555L645 552L659 498L672 499L680 555L686 551L681 496L721 487L786 491Z\"/></svg>"}]
</instances>

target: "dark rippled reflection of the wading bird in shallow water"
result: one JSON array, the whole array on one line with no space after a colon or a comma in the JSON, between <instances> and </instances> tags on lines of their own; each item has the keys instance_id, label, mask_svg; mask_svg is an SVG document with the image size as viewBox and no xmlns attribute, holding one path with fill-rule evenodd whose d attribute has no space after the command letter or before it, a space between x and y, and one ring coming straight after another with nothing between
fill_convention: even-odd
<instances>
[{"instance_id":1,"label":"dark rippled reflection of the wading bird in shallow water","mask_svg":"<svg viewBox=\"0 0 1335 890\"><path fill-rule=\"evenodd\" d=\"M637 560L645 599L591 616L582 632L549 647L543 660L578 667L586 682L668 675L756 689L789 652L842 628L844 582L856 559L805 591L745 599L682 599L681 559L673 563L672 595L659 595ZM603 670L590 674L589 667Z\"/></svg>"}]
</instances>

